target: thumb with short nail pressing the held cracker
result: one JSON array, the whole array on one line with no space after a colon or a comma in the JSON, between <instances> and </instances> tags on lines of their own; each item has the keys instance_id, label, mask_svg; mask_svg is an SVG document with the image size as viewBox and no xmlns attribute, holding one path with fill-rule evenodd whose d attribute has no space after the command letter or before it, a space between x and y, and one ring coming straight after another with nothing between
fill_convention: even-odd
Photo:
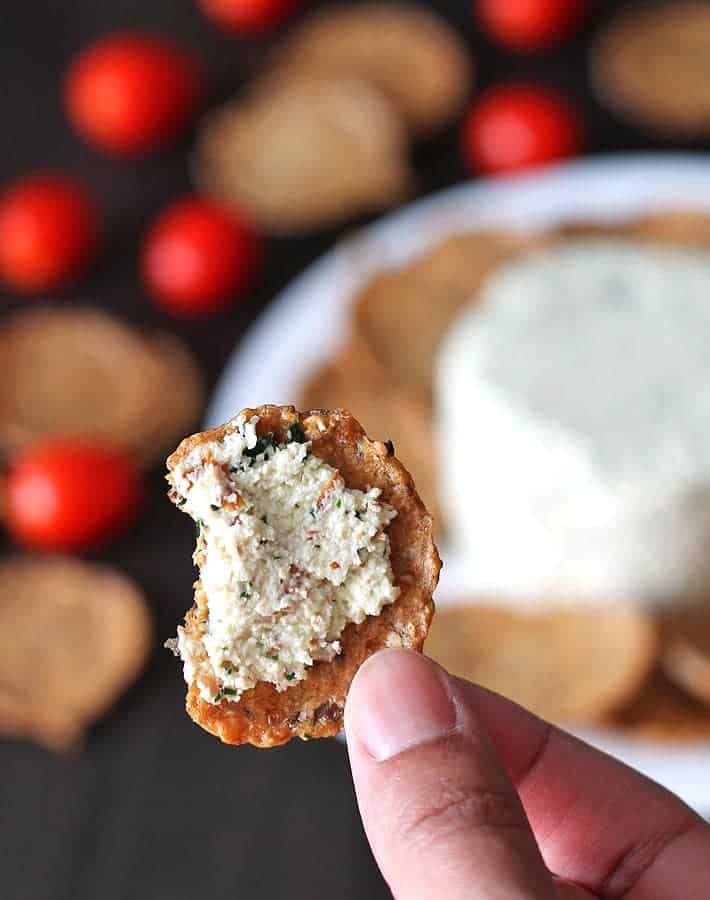
<instances>
[{"instance_id":1,"label":"thumb with short nail pressing the held cracker","mask_svg":"<svg viewBox=\"0 0 710 900\"><path fill-rule=\"evenodd\" d=\"M485 729L443 669L406 650L371 657L345 728L365 831L397 900L558 896Z\"/></svg>"}]
</instances>

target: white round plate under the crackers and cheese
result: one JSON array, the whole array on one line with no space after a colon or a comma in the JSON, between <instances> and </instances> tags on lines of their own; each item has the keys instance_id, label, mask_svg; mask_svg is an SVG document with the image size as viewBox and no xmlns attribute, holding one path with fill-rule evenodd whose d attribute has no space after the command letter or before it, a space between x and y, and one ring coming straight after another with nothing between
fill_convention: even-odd
<instances>
[{"instance_id":1,"label":"white round plate under the crackers and cheese","mask_svg":"<svg viewBox=\"0 0 710 900\"><path fill-rule=\"evenodd\" d=\"M672 206L710 211L710 157L602 157L463 184L420 200L341 242L274 300L229 361L208 422L224 422L245 406L293 403L309 372L344 339L354 292L373 272L405 262L448 234L613 221ZM444 558L440 604L456 595L460 581L456 560ZM710 811L710 744L669 748L599 733L585 737Z\"/></svg>"}]
</instances>

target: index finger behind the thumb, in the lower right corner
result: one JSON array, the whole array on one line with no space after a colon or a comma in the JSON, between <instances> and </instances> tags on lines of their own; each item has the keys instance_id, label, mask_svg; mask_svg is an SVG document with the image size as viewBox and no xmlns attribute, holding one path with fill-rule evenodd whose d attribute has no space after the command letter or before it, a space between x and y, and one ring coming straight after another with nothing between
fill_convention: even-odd
<instances>
[{"instance_id":1,"label":"index finger behind the thumb, in the lower right corner","mask_svg":"<svg viewBox=\"0 0 710 900\"><path fill-rule=\"evenodd\" d=\"M602 900L710 896L710 826L633 769L459 679L550 871Z\"/></svg>"}]
</instances>

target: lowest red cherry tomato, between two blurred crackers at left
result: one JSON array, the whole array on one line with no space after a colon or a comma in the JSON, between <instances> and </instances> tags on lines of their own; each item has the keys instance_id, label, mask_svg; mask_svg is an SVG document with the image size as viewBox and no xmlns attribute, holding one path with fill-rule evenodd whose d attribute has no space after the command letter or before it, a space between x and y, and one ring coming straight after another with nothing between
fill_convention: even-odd
<instances>
[{"instance_id":1,"label":"lowest red cherry tomato, between two blurred crackers at left","mask_svg":"<svg viewBox=\"0 0 710 900\"><path fill-rule=\"evenodd\" d=\"M139 476L123 453L93 441L50 440L10 466L8 528L34 550L89 550L132 520L139 498Z\"/></svg>"}]
</instances>

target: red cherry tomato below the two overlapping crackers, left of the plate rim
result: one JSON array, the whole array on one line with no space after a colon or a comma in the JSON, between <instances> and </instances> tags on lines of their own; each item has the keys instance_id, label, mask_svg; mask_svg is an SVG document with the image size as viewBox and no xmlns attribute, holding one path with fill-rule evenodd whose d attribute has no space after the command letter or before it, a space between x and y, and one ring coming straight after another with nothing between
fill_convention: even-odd
<instances>
[{"instance_id":1,"label":"red cherry tomato below the two overlapping crackers, left of the plate rim","mask_svg":"<svg viewBox=\"0 0 710 900\"><path fill-rule=\"evenodd\" d=\"M149 229L143 281L157 304L175 315L218 312L251 283L259 256L256 233L235 213L186 197Z\"/></svg>"}]
</instances>

